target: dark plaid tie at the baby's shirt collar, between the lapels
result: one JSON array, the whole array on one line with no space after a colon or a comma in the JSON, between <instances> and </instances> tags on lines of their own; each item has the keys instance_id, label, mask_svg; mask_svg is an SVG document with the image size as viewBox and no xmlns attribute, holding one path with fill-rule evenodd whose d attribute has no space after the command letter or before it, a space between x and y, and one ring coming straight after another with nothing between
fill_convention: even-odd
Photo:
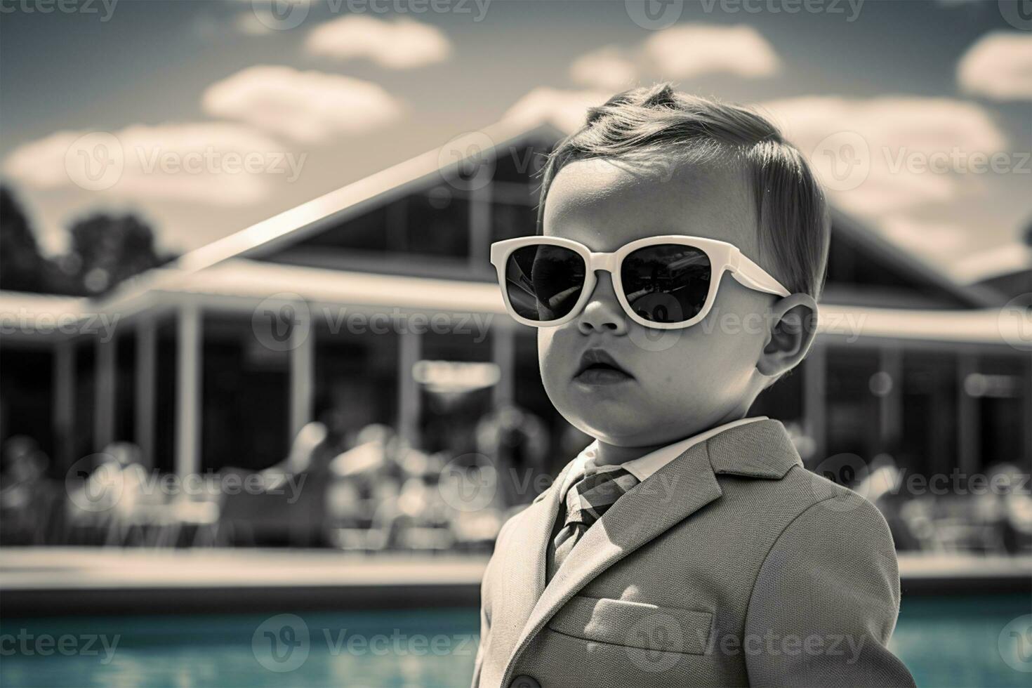
<instances>
[{"instance_id":1,"label":"dark plaid tie at the baby's shirt collar, between the lapels","mask_svg":"<svg viewBox=\"0 0 1032 688\"><path fill-rule=\"evenodd\" d=\"M584 531L636 485L638 479L626 468L620 466L593 468L588 463L584 478L567 491L567 518L562 530L554 540L556 569L566 560Z\"/></svg>"}]
</instances>

